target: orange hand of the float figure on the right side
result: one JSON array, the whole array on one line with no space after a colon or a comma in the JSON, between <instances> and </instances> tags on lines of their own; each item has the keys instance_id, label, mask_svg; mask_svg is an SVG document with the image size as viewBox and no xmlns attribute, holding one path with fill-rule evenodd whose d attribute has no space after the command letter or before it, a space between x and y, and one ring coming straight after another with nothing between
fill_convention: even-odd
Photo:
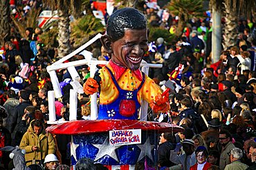
<instances>
[{"instance_id":1,"label":"orange hand of the float figure on the right side","mask_svg":"<svg viewBox=\"0 0 256 170\"><path fill-rule=\"evenodd\" d=\"M150 107L153 109L154 113L165 113L166 111L170 110L170 104L169 104L169 93L163 93L158 94L155 97L155 100L152 100L149 104Z\"/></svg>"}]
</instances>

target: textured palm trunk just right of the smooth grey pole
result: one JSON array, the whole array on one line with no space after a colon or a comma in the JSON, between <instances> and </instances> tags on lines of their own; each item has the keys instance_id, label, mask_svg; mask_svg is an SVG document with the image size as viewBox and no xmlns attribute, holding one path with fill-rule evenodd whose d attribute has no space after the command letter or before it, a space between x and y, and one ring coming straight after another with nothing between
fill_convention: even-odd
<instances>
[{"instance_id":1,"label":"textured palm trunk just right of the smooth grey pole","mask_svg":"<svg viewBox=\"0 0 256 170\"><path fill-rule=\"evenodd\" d=\"M237 41L237 10L230 6L230 3L227 1L224 3L226 12L225 16L225 29L223 34L223 47L224 50L228 49L228 47L236 45Z\"/></svg>"}]
</instances>

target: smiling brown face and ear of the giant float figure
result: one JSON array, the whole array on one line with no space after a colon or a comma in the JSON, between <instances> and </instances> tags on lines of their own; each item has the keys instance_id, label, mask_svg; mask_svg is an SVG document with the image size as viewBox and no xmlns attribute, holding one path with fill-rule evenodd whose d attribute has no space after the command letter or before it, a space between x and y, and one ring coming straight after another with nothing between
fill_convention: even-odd
<instances>
[{"instance_id":1,"label":"smiling brown face and ear of the giant float figure","mask_svg":"<svg viewBox=\"0 0 256 170\"><path fill-rule=\"evenodd\" d=\"M114 63L127 67L130 70L138 70L147 46L147 30L125 30L122 39L111 43L113 50L111 59Z\"/></svg>"}]
</instances>

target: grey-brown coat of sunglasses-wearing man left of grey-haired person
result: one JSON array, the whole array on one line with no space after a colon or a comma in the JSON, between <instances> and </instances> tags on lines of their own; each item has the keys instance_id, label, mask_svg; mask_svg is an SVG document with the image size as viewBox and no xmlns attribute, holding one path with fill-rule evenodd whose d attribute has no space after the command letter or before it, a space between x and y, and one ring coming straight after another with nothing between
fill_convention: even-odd
<instances>
[{"instance_id":1,"label":"grey-brown coat of sunglasses-wearing man left of grey-haired person","mask_svg":"<svg viewBox=\"0 0 256 170\"><path fill-rule=\"evenodd\" d=\"M219 159L219 169L223 170L227 164L230 164L230 156L228 153L230 153L231 149L235 148L235 145L232 144L232 142L228 142L227 145L222 148L221 156Z\"/></svg>"}]
</instances>

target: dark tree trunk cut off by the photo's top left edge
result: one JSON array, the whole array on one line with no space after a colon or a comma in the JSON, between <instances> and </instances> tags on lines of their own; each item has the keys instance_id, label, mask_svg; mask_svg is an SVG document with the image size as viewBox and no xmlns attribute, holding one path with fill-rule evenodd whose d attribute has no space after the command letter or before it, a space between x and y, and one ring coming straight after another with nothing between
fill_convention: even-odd
<instances>
[{"instance_id":1,"label":"dark tree trunk cut off by the photo's top left edge","mask_svg":"<svg viewBox=\"0 0 256 170\"><path fill-rule=\"evenodd\" d=\"M10 4L0 0L0 45L4 45L5 38L10 36Z\"/></svg>"}]
</instances>

